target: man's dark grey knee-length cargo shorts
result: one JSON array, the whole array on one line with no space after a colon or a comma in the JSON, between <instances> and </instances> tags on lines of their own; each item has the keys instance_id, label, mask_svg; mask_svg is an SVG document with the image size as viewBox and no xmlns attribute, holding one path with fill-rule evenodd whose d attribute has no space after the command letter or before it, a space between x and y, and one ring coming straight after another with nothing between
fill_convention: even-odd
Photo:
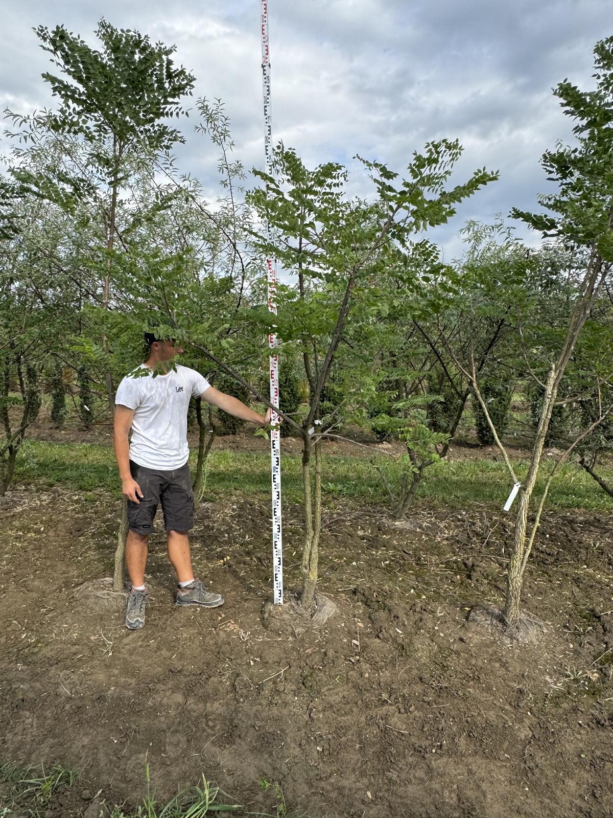
<instances>
[{"instance_id":1,"label":"man's dark grey knee-length cargo shorts","mask_svg":"<svg viewBox=\"0 0 613 818\"><path fill-rule=\"evenodd\" d=\"M150 534L158 504L162 504L166 531L186 532L194 525L194 492L190 467L163 471L130 461L130 474L145 495L138 503L128 500L128 524L136 534Z\"/></svg>"}]
</instances>

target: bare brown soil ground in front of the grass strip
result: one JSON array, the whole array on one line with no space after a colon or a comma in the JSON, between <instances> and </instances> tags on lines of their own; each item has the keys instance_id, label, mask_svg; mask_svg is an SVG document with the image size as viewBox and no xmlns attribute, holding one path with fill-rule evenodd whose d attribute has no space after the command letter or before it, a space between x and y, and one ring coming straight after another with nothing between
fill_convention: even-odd
<instances>
[{"instance_id":1,"label":"bare brown soil ground in front of the grass strip","mask_svg":"<svg viewBox=\"0 0 613 818\"><path fill-rule=\"evenodd\" d=\"M264 615L270 510L243 500L203 506L193 533L226 604L173 606L158 522L147 622L127 631L83 593L110 576L117 513L58 487L0 506L2 757L83 768L47 818L97 789L135 803L145 757L160 795L204 772L254 810L264 776L310 816L613 816L613 516L545 515L525 601L548 631L505 648L467 622L503 595L497 510L328 510L320 590L339 610L303 632ZM287 587L301 529L286 506Z\"/></svg>"}]
</instances>

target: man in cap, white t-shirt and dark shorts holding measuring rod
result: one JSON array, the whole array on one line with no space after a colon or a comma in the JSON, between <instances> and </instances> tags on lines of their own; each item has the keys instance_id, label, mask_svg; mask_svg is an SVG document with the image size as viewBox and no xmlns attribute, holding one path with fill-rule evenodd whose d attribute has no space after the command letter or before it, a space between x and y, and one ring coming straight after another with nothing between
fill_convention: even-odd
<instances>
[{"instance_id":1,"label":"man in cap, white t-shirt and dark shorts holding measuring rod","mask_svg":"<svg viewBox=\"0 0 613 818\"><path fill-rule=\"evenodd\" d=\"M128 501L129 531L126 564L132 589L128 595L126 627L145 624L145 564L147 542L158 504L162 504L168 533L168 558L177 572L177 605L223 605L221 594L205 591L191 567L188 531L194 520L194 493L187 465L187 408L190 398L204 398L230 415L257 425L271 422L271 410L258 415L237 398L214 389L199 372L186 366L168 366L183 352L174 339L145 333L149 370L140 377L123 378L115 396L114 448L123 496ZM164 374L153 377L161 365ZM132 442L128 434L132 428Z\"/></svg>"}]
</instances>

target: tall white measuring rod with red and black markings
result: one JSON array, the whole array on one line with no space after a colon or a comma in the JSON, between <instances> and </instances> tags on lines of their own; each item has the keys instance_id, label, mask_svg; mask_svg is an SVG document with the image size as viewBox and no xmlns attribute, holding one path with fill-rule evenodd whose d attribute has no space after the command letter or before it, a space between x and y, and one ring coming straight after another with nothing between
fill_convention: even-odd
<instances>
[{"instance_id":1,"label":"tall white measuring rod with red and black markings","mask_svg":"<svg viewBox=\"0 0 613 818\"><path fill-rule=\"evenodd\" d=\"M268 2L260 0L262 11L262 91L264 96L264 152L266 158L266 173L272 176L272 118L271 118L271 52L268 47ZM275 234L270 224L266 225L268 240L272 243ZM274 258L266 258L266 273L268 278L268 308L276 315L275 293L277 286L277 270ZM279 408L279 358L277 336L271 333L268 336L271 348L271 403ZM273 587L275 590L275 605L283 605L283 537L281 533L281 438L278 424L279 416L273 411L271 422L274 428L271 432L271 473L272 473L272 569Z\"/></svg>"}]
</instances>

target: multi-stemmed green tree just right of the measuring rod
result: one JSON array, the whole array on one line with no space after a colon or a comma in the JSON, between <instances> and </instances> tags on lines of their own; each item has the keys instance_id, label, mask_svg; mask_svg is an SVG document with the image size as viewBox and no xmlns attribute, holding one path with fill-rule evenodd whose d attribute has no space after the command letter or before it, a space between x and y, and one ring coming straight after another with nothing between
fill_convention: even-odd
<instances>
[{"instance_id":1,"label":"multi-stemmed green tree just right of the measuring rod","mask_svg":"<svg viewBox=\"0 0 613 818\"><path fill-rule=\"evenodd\" d=\"M259 236L257 246L262 253L277 258L296 281L293 287L279 287L276 317L271 318L263 307L257 314L262 325L276 327L282 341L292 341L301 349L309 384L309 407L301 429L305 506L302 606L308 612L315 602L318 576L320 444L325 435L333 434L330 430L318 433L316 427L323 420L329 424L347 403L364 403L365 394L372 393L374 387L372 377L368 377L372 357L369 361L365 350L352 350L354 366L349 372L345 369L345 376L351 379L353 389L351 393L347 386L343 389L342 402L326 419L320 416L322 392L341 345L342 354L350 354L342 344L348 327L389 312L385 290L377 282L390 274L390 267L404 289L416 285L413 270L396 248L408 249L411 234L446 222L459 201L496 178L481 170L466 184L445 190L460 152L457 142L428 143L423 154L414 154L405 180L399 180L398 174L383 164L365 161L377 193L374 203L368 204L347 199L347 172L340 165L327 163L308 170L294 151L280 146L275 151L275 177L258 172L266 188L249 196L262 222L271 225L276 237L271 243Z\"/></svg>"}]
</instances>

